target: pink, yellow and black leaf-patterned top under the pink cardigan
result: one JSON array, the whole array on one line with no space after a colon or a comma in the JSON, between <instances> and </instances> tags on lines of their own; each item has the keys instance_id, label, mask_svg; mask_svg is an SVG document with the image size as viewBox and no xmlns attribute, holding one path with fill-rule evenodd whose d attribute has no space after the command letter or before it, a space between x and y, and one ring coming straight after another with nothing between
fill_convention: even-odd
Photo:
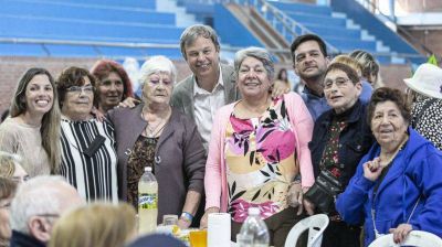
<instances>
[{"instance_id":1,"label":"pink, yellow and black leaf-patterned top under the pink cardigan","mask_svg":"<svg viewBox=\"0 0 442 247\"><path fill-rule=\"evenodd\" d=\"M249 207L259 207L263 219L288 207L288 186L298 168L295 143L283 98L259 118L230 116L224 150L234 222L244 222Z\"/></svg>"}]
</instances>

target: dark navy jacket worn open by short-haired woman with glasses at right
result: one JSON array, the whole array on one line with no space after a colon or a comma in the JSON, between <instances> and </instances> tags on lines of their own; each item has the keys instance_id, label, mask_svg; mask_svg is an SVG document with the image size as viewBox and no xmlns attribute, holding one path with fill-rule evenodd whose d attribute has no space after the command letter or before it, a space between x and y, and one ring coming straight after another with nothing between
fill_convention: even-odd
<instances>
[{"instance_id":1,"label":"dark navy jacket worn open by short-haired woman with glasses at right","mask_svg":"<svg viewBox=\"0 0 442 247\"><path fill-rule=\"evenodd\" d=\"M347 116L347 127L339 136L339 164L341 169L340 183L344 189L356 172L359 160L368 152L375 138L367 121L367 105L356 101L355 106L345 112ZM328 143L328 133L334 118L334 110L327 110L315 122L312 141L308 148L312 151L312 163L315 178L319 173L319 164L323 152Z\"/></svg>"}]
</instances>

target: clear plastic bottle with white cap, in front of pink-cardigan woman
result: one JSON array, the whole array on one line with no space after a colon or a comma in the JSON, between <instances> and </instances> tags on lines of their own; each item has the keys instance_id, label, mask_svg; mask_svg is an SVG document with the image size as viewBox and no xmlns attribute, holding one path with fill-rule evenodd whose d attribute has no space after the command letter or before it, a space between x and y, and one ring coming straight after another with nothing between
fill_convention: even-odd
<instances>
[{"instance_id":1,"label":"clear plastic bottle with white cap, in front of pink-cardigan woman","mask_svg":"<svg viewBox=\"0 0 442 247\"><path fill-rule=\"evenodd\" d=\"M260 217L260 208L250 207L249 217L242 224L240 237L249 243L238 243L240 247L269 247L270 235L267 226ZM250 243L251 241L251 243Z\"/></svg>"}]
</instances>

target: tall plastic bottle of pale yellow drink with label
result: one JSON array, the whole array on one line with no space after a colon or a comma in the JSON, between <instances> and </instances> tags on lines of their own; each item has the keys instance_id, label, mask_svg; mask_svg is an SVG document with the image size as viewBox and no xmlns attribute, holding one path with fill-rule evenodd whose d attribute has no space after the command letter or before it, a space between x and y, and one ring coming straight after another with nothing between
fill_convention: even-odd
<instances>
[{"instance_id":1,"label":"tall plastic bottle of pale yellow drink with label","mask_svg":"<svg viewBox=\"0 0 442 247\"><path fill-rule=\"evenodd\" d=\"M157 228L158 216L158 183L151 173L151 168L145 168L145 173L138 182L138 232L151 233Z\"/></svg>"}]
</instances>

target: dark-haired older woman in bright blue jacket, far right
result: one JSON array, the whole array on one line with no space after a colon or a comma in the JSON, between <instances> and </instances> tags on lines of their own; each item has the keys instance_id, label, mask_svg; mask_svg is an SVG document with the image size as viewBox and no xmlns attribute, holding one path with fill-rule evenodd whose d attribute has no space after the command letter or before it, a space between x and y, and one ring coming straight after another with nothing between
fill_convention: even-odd
<instances>
[{"instance_id":1,"label":"dark-haired older woman in bright blue jacket, far right","mask_svg":"<svg viewBox=\"0 0 442 247\"><path fill-rule=\"evenodd\" d=\"M365 222L365 246L389 233L401 243L413 229L442 236L442 152L408 127L410 110L397 89L375 90L368 120L377 143L337 211L348 224Z\"/></svg>"}]
</instances>

